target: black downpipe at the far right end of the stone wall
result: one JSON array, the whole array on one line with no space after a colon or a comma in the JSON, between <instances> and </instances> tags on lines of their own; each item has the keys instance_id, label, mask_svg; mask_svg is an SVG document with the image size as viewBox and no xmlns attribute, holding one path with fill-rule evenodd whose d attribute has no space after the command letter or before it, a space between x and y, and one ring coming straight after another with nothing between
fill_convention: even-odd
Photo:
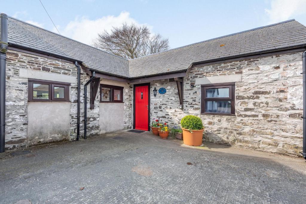
<instances>
[{"instance_id":1,"label":"black downpipe at the far right end of the stone wall","mask_svg":"<svg viewBox=\"0 0 306 204\"><path fill-rule=\"evenodd\" d=\"M306 159L306 51L302 54L303 61L303 157Z\"/></svg>"}]
</instances>

